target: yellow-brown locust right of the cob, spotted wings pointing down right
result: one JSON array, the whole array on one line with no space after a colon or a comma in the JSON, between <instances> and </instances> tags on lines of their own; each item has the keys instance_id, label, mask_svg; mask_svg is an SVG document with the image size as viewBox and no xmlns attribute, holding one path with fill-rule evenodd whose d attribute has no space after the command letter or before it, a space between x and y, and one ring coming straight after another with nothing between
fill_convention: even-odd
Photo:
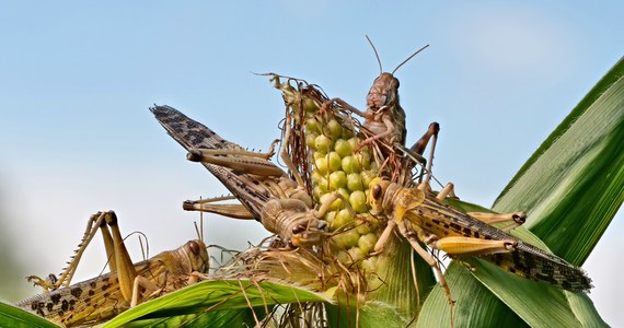
<instances>
[{"instance_id":1,"label":"yellow-brown locust right of the cob, spotted wings pointing down right","mask_svg":"<svg viewBox=\"0 0 624 328\"><path fill-rule=\"evenodd\" d=\"M386 238L396 226L413 248L435 270L440 284L452 305L450 289L435 257L418 242L436 250L443 250L451 258L478 256L517 276L543 281L573 292L591 289L591 279L585 271L564 259L498 230L490 224L515 221L510 227L522 224L525 215L516 212L507 215L463 213L444 204L441 192L434 197L418 188L404 188L397 184L375 178L370 183L369 202L373 214L389 218L375 251L381 251Z\"/></svg>"}]
</instances>

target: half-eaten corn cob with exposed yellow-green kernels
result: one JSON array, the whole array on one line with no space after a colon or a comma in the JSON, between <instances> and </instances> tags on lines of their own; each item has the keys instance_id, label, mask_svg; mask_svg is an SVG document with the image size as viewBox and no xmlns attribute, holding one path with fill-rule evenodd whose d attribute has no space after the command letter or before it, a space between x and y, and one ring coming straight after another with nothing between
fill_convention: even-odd
<instances>
[{"instance_id":1,"label":"half-eaten corn cob with exposed yellow-green kernels","mask_svg":"<svg viewBox=\"0 0 624 328\"><path fill-rule=\"evenodd\" d=\"M361 147L362 140L370 136L362 134L360 124L349 112L317 87L294 79L281 83L279 78L273 75L287 107L289 126L284 130L289 136L282 140L288 142L289 156L300 168L316 204L325 204L336 192L340 195L321 218L332 234L330 257L351 272L365 272L358 278L367 283L369 291L375 290L382 283L377 278L381 255L375 255L373 247L385 222L370 214L368 188L374 177L390 176L400 163L385 161L388 150L380 150L381 143ZM381 262L386 265L388 260Z\"/></svg>"}]
</instances>

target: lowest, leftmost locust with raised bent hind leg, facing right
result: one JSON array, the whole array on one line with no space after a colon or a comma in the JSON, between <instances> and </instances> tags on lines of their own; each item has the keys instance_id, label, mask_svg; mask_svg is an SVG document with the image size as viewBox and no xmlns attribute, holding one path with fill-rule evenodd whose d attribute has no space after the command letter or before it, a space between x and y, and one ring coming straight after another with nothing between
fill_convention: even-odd
<instances>
[{"instance_id":1,"label":"lowest, leftmost locust with raised bent hind leg, facing right","mask_svg":"<svg viewBox=\"0 0 624 328\"><path fill-rule=\"evenodd\" d=\"M104 237L111 272L70 284L78 261L97 230ZM94 325L141 302L192 284L207 272L208 253L199 239L132 263L115 213L99 212L90 218L85 237L60 278L48 282L28 277L28 281L35 281L47 292L21 301L16 306L63 326Z\"/></svg>"}]
</instances>

